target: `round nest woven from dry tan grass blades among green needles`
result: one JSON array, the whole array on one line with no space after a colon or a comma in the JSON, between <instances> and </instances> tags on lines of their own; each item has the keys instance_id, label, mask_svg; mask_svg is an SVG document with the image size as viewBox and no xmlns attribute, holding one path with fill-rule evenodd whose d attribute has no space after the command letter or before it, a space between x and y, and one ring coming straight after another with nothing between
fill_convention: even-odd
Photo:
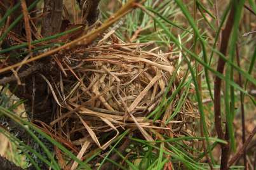
<instances>
[{"instance_id":1,"label":"round nest woven from dry tan grass blades among green needles","mask_svg":"<svg viewBox=\"0 0 256 170\"><path fill-rule=\"evenodd\" d=\"M176 73L169 84L175 72L170 58L175 56L142 50L149 45L101 44L58 54L61 60L55 57L60 81L51 88L58 103L51 126L62 138L76 146L87 143L88 147L90 143L104 150L126 129L147 141L156 140L156 132L168 136L192 133L187 125L196 115L187 98L180 106L182 112L165 124L173 116L182 91L157 120L153 121L154 116L147 119L156 113L163 95L172 95L181 79Z\"/></svg>"}]
</instances>

